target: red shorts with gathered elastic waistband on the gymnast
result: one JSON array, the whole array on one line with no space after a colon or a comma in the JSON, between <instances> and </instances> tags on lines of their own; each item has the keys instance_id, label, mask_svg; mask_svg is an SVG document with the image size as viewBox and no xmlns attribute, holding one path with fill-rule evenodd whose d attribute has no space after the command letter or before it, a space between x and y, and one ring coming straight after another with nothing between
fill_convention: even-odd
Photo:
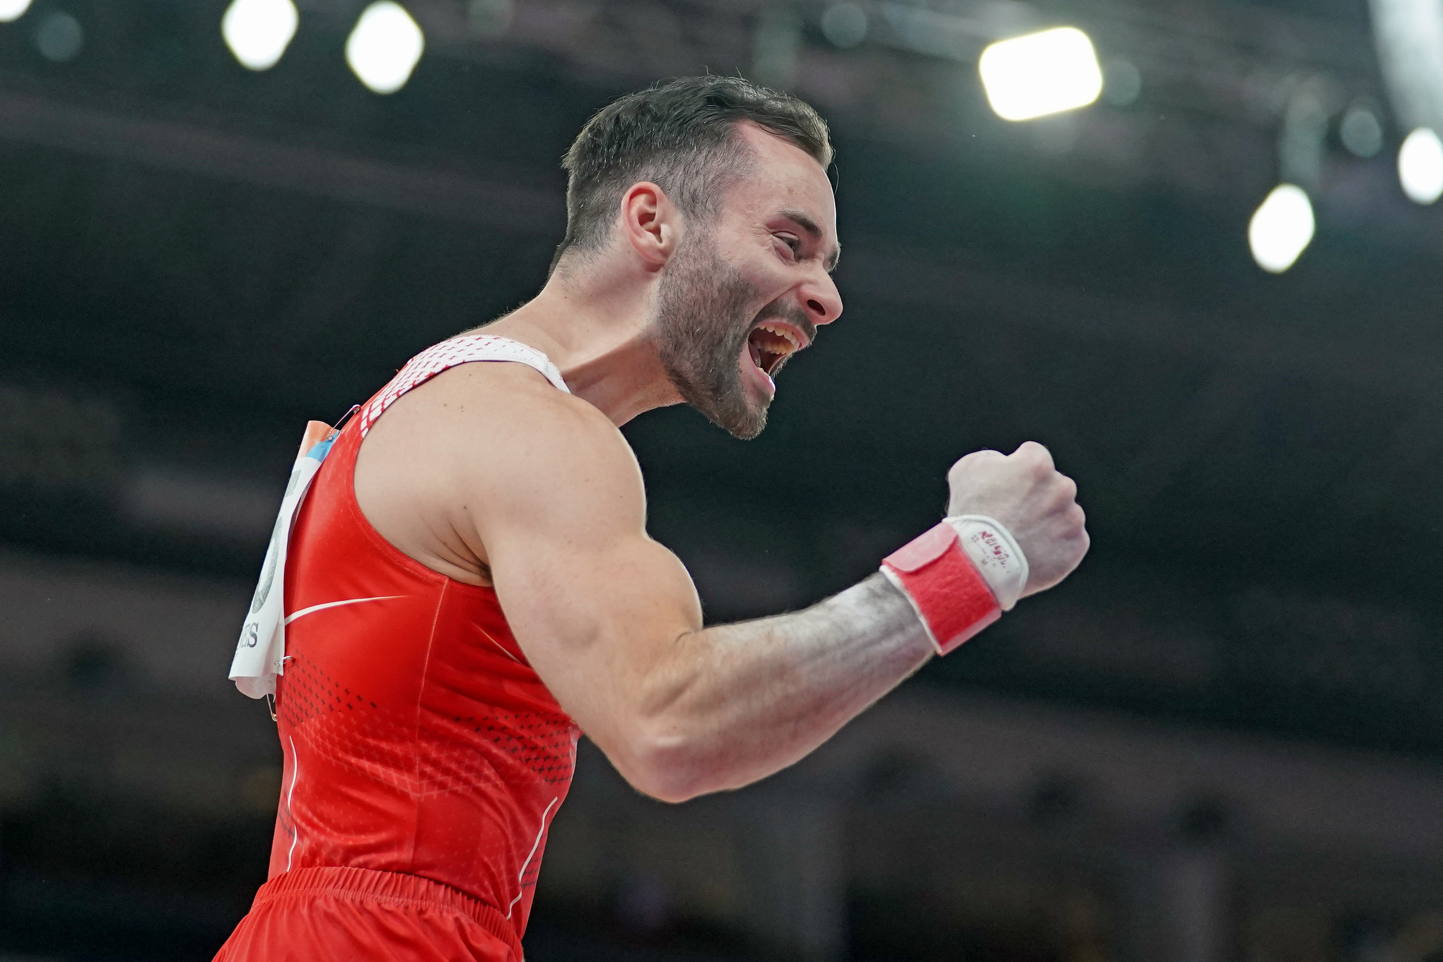
<instances>
[{"instance_id":1,"label":"red shorts with gathered elastic waistband on the gymnast","mask_svg":"<svg viewBox=\"0 0 1443 962\"><path fill-rule=\"evenodd\" d=\"M521 962L491 906L420 875L296 868L271 878L215 962Z\"/></svg>"}]
</instances>

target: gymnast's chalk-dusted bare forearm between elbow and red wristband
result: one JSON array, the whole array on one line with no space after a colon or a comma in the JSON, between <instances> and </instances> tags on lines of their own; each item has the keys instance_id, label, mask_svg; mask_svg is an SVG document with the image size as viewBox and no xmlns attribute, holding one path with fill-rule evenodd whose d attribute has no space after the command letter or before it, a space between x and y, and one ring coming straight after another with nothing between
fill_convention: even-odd
<instances>
[{"instance_id":1,"label":"gymnast's chalk-dusted bare forearm between elbow and red wristband","mask_svg":"<svg viewBox=\"0 0 1443 962\"><path fill-rule=\"evenodd\" d=\"M662 795L739 787L792 764L932 650L882 575L802 612L683 635L641 705Z\"/></svg>"}]
</instances>

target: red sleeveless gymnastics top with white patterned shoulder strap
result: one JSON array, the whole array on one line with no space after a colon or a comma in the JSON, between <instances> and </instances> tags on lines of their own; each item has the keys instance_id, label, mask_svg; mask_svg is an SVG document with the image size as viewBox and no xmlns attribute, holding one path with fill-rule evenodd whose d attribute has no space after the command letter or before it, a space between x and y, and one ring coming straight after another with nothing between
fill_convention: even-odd
<instances>
[{"instance_id":1,"label":"red sleeveless gymnastics top with white patterned shoulder strap","mask_svg":"<svg viewBox=\"0 0 1443 962\"><path fill-rule=\"evenodd\" d=\"M401 554L352 486L364 433L390 402L468 361L521 361L564 389L517 342L443 342L341 431L296 516L270 877L319 865L421 875L489 906L519 939L580 730L511 636L496 593Z\"/></svg>"}]
</instances>

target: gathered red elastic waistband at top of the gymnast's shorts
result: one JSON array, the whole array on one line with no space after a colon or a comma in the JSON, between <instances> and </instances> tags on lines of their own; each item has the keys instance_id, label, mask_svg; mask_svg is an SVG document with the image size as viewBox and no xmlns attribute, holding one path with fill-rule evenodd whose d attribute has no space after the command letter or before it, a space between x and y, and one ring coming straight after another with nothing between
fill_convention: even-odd
<instances>
[{"instance_id":1,"label":"gathered red elastic waistband at top of the gymnast's shorts","mask_svg":"<svg viewBox=\"0 0 1443 962\"><path fill-rule=\"evenodd\" d=\"M443 886L420 875L375 868L351 868L341 865L317 865L293 868L276 875L255 893L253 907L264 901L287 896L310 894L325 899L351 899L355 901L414 903L449 909L466 916L488 933L496 936L521 959L521 939L511 922L479 899Z\"/></svg>"}]
</instances>

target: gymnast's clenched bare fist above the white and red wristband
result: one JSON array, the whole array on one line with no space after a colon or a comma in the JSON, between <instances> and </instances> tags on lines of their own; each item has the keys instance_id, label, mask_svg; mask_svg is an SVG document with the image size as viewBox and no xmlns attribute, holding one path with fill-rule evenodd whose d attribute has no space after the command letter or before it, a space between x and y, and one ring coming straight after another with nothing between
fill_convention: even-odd
<instances>
[{"instance_id":1,"label":"gymnast's clenched bare fist above the white and red wristband","mask_svg":"<svg viewBox=\"0 0 1443 962\"><path fill-rule=\"evenodd\" d=\"M1007 526L1027 555L1023 597L1046 591L1087 554L1087 518L1076 483L1058 473L1052 454L1025 441L1012 454L973 451L947 472L948 515L987 515Z\"/></svg>"}]
</instances>

